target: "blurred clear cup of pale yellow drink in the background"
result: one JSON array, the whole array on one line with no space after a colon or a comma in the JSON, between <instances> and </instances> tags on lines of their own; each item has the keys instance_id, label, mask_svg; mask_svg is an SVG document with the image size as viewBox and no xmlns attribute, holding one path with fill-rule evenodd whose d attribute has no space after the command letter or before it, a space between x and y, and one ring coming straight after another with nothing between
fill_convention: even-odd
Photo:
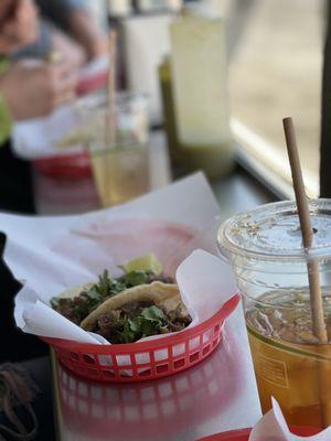
<instances>
[{"instance_id":1,"label":"blurred clear cup of pale yellow drink in the background","mask_svg":"<svg viewBox=\"0 0 331 441\"><path fill-rule=\"evenodd\" d=\"M149 191L148 106L140 94L105 96L79 105L93 174L103 206L121 204Z\"/></svg>"}]
</instances>

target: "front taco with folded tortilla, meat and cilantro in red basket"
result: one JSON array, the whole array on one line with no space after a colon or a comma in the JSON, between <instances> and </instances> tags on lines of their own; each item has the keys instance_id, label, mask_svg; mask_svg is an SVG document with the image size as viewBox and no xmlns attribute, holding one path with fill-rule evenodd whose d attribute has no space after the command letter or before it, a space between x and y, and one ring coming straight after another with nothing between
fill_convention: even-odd
<instances>
[{"instance_id":1,"label":"front taco with folded tortilla, meat and cilantro in red basket","mask_svg":"<svg viewBox=\"0 0 331 441\"><path fill-rule=\"evenodd\" d=\"M114 344L182 331L191 321L178 286L157 281L106 300L82 321L81 326Z\"/></svg>"}]
</instances>

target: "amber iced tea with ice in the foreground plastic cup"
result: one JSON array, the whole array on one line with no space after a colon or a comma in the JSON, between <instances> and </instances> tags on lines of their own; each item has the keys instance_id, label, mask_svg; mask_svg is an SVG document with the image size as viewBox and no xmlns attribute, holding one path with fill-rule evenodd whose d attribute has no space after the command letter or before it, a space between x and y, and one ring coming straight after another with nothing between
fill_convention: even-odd
<instances>
[{"instance_id":1,"label":"amber iced tea with ice in the foreground plastic cup","mask_svg":"<svg viewBox=\"0 0 331 441\"><path fill-rule=\"evenodd\" d=\"M311 332L308 292L274 291L249 303L246 324L263 412L274 396L289 424L330 424L331 345L319 345ZM330 335L328 295L324 313Z\"/></svg>"}]
</instances>

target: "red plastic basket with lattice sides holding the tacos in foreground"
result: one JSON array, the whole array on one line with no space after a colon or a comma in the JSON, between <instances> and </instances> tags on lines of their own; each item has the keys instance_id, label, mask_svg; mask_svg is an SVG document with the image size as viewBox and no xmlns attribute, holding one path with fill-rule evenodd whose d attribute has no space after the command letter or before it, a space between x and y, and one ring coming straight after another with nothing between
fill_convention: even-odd
<instances>
[{"instance_id":1,"label":"red plastic basket with lattice sides holding the tacos in foreground","mask_svg":"<svg viewBox=\"0 0 331 441\"><path fill-rule=\"evenodd\" d=\"M64 366L84 378L107 383L150 380L177 374L207 357L221 342L224 320L238 302L236 294L197 326L134 344L94 345L43 340L53 346Z\"/></svg>"}]
</instances>

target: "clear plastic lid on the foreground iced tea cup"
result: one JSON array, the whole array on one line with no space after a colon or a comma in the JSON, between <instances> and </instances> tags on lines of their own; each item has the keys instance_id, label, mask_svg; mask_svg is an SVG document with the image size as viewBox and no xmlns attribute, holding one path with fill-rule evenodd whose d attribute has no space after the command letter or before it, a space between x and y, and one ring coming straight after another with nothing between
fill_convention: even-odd
<instances>
[{"instance_id":1,"label":"clear plastic lid on the foreground iced tea cup","mask_svg":"<svg viewBox=\"0 0 331 441\"><path fill-rule=\"evenodd\" d=\"M263 205L236 215L218 229L221 254L257 260L331 258L331 200L309 201L314 232L309 251L302 246L297 205L292 201Z\"/></svg>"}]
</instances>

